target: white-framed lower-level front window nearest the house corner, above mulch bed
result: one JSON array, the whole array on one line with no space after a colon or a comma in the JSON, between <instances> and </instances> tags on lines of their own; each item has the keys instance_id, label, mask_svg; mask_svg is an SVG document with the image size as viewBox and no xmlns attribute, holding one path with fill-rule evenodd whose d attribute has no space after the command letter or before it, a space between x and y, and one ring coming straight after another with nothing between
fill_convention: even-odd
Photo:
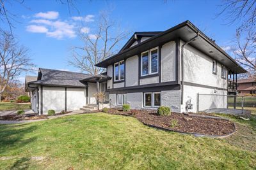
<instances>
[{"instance_id":1,"label":"white-framed lower-level front window nearest the house corner, above mulch bed","mask_svg":"<svg viewBox=\"0 0 256 170\"><path fill-rule=\"evenodd\" d=\"M144 93L144 107L157 108L159 106L161 106L161 93L160 92Z\"/></svg>"}]
</instances>

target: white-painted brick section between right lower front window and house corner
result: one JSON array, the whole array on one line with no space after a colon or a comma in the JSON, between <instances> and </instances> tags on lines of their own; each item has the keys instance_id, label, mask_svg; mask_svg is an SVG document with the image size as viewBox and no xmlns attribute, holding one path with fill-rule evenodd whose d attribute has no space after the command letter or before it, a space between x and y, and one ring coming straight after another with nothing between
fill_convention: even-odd
<instances>
[{"instance_id":1,"label":"white-painted brick section between right lower front window and house corner","mask_svg":"<svg viewBox=\"0 0 256 170\"><path fill-rule=\"evenodd\" d=\"M180 90L161 91L161 106L168 106L172 111L180 112Z\"/></svg>"}]
</instances>

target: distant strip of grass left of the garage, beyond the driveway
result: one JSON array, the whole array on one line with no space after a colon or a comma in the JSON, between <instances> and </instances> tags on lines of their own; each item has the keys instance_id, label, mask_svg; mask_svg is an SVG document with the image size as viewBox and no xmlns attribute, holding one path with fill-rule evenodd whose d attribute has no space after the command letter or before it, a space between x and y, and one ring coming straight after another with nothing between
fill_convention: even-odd
<instances>
[{"instance_id":1,"label":"distant strip of grass left of the garage, beyond the driveway","mask_svg":"<svg viewBox=\"0 0 256 170\"><path fill-rule=\"evenodd\" d=\"M1 102L0 111L6 110L29 110L31 109L30 103L10 103L10 102Z\"/></svg>"}]
</instances>

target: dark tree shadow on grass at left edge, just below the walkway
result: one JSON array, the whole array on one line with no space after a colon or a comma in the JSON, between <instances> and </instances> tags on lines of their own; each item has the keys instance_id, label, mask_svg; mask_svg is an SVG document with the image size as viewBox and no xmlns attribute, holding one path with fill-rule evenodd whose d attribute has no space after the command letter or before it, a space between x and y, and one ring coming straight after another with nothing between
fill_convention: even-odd
<instances>
[{"instance_id":1,"label":"dark tree shadow on grass at left edge, just below the walkway","mask_svg":"<svg viewBox=\"0 0 256 170\"><path fill-rule=\"evenodd\" d=\"M36 137L23 139L26 134L31 134L37 129L36 125L26 127L20 125L0 125L0 153L10 152L22 148L35 141Z\"/></svg>"}]
</instances>

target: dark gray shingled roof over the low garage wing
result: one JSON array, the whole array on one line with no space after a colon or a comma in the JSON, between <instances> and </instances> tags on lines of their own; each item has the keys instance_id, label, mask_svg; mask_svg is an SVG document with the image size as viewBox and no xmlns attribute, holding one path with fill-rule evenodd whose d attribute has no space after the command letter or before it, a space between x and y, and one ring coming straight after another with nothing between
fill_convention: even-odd
<instances>
[{"instance_id":1,"label":"dark gray shingled roof over the low garage wing","mask_svg":"<svg viewBox=\"0 0 256 170\"><path fill-rule=\"evenodd\" d=\"M39 68L38 79L40 80L31 81L28 84L60 87L85 87L85 85L79 80L83 80L84 78L89 78L91 76L92 75L90 74Z\"/></svg>"}]
</instances>

